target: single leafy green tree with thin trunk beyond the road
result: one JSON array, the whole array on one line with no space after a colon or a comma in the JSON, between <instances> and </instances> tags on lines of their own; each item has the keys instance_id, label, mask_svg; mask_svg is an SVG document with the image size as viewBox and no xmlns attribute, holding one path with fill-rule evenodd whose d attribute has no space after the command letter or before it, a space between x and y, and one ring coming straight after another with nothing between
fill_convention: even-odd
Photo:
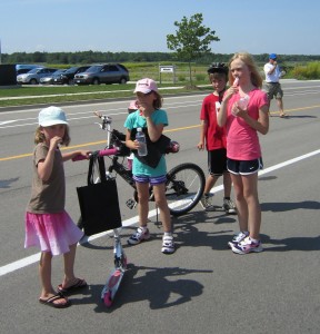
<instances>
[{"instance_id":1,"label":"single leafy green tree with thin trunk beyond the road","mask_svg":"<svg viewBox=\"0 0 320 334\"><path fill-rule=\"evenodd\" d=\"M176 21L178 30L174 35L167 35L167 46L176 50L179 60L189 62L190 84L192 86L191 61L211 51L210 43L219 41L216 31L202 24L202 13L196 13L188 18L183 17L181 22Z\"/></svg>"}]
</instances>

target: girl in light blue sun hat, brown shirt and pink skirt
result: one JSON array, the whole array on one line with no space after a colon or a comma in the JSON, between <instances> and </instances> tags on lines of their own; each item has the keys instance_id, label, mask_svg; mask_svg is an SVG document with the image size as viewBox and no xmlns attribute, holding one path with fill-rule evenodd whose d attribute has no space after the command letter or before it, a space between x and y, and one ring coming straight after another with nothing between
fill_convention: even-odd
<instances>
[{"instance_id":1,"label":"girl in light blue sun hat, brown shirt and pink skirt","mask_svg":"<svg viewBox=\"0 0 320 334\"><path fill-rule=\"evenodd\" d=\"M63 161L90 151L60 151L59 146L70 143L66 114L58 107L48 107L39 114L39 126L34 136L33 180L31 198L26 213L24 247L38 246L41 249L39 275L42 284L39 302L43 305L62 308L70 306L63 293L87 286L84 279L76 277L73 265L77 243L83 233L64 210L66 180ZM52 256L63 254L64 277L58 292L51 283Z\"/></svg>"}]
</instances>

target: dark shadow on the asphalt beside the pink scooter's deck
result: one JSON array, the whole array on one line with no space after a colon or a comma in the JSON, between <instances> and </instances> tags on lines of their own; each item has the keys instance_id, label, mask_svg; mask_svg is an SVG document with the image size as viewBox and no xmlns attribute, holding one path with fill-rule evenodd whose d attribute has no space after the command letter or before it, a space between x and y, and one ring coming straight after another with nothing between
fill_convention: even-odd
<instances>
[{"instance_id":1,"label":"dark shadow on the asphalt beside the pink scooter's deck","mask_svg":"<svg viewBox=\"0 0 320 334\"><path fill-rule=\"evenodd\" d=\"M141 272L146 272L144 275ZM140 275L136 277L138 273ZM141 301L149 301L151 310L167 308L190 302L193 297L202 294L203 285L194 279L170 279L170 277L191 273L211 274L212 271L180 267L144 267L129 264L113 305L110 308L101 301L102 284L90 285L90 296L81 296L79 299L71 297L70 299L73 305L96 305L94 312L97 313L111 313L123 304Z\"/></svg>"}]
</instances>

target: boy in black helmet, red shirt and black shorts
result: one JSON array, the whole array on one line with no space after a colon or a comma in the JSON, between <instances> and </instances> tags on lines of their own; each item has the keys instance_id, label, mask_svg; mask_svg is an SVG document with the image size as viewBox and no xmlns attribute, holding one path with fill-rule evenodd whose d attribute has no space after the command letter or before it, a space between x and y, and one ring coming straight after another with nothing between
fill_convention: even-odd
<instances>
[{"instance_id":1,"label":"boy in black helmet, red shirt and black shorts","mask_svg":"<svg viewBox=\"0 0 320 334\"><path fill-rule=\"evenodd\" d=\"M214 212L216 207L211 203L210 190L220 176L223 176L224 197L222 207L227 214L237 214L236 206L230 199L231 177L227 170L227 139L224 127L219 127L217 115L220 109L220 102L226 90L228 81L228 67L224 63L213 63L208 69L210 82L213 92L208 95L203 101L200 111L200 141L198 149L208 151L209 175L206 180L204 191L200 200L206 212Z\"/></svg>"}]
</instances>

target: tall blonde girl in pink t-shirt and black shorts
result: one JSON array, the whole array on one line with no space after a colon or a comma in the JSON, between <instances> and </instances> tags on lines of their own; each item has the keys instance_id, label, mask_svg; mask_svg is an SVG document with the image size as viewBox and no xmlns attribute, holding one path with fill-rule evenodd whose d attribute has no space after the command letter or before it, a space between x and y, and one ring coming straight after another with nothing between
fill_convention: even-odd
<instances>
[{"instance_id":1,"label":"tall blonde girl in pink t-shirt and black shorts","mask_svg":"<svg viewBox=\"0 0 320 334\"><path fill-rule=\"evenodd\" d=\"M262 252L258 171L262 166L258 132L269 130L268 97L251 55L236 53L229 62L229 84L218 115L227 126L227 167L236 193L240 232L228 243L233 253Z\"/></svg>"}]
</instances>

